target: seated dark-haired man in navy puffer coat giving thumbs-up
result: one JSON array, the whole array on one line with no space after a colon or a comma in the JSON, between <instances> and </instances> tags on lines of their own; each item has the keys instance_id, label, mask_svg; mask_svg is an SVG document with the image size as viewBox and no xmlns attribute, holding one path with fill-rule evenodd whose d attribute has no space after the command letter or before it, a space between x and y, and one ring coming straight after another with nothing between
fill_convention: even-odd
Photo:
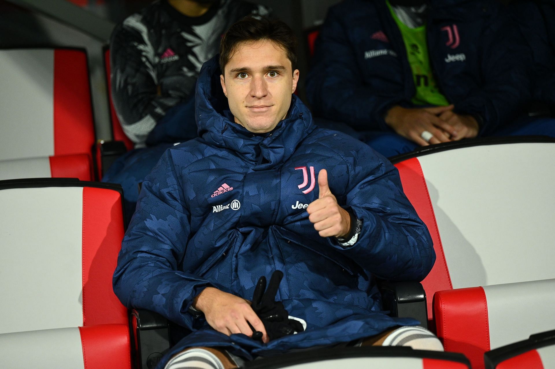
<instances>
[{"instance_id":1,"label":"seated dark-haired man in navy puffer coat giving thumbs-up","mask_svg":"<svg viewBox=\"0 0 555 369\"><path fill-rule=\"evenodd\" d=\"M235 23L219 63L201 69L201 137L168 149L143 183L114 291L129 308L193 331L164 357L179 353L172 369L199 357L235 367L227 353L251 360L372 336L382 342L393 328L417 324L381 311L375 276L422 280L435 261L430 234L395 167L360 141L312 124L292 95L295 65L285 23ZM306 324L281 338L282 327L248 301L258 306L257 280L276 271L284 277L270 281L271 302L276 296L285 316ZM442 350L430 332L417 333Z\"/></svg>"}]
</instances>

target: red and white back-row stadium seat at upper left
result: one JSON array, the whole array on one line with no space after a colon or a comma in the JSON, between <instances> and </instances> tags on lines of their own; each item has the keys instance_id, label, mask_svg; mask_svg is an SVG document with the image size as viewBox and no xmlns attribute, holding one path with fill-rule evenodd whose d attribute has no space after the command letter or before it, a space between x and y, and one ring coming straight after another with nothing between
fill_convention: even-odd
<instances>
[{"instance_id":1,"label":"red and white back-row stadium seat at upper left","mask_svg":"<svg viewBox=\"0 0 555 369\"><path fill-rule=\"evenodd\" d=\"M94 122L85 51L2 49L0 64L0 100L7 107L0 111L0 161L11 161L2 165L2 178L40 171L92 179Z\"/></svg>"}]
</instances>

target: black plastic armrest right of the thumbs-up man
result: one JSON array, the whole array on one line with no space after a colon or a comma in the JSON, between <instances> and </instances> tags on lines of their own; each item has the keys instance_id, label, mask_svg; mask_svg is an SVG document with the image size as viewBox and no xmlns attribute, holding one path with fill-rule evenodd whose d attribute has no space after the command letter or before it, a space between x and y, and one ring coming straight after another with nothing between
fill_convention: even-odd
<instances>
[{"instance_id":1,"label":"black plastic armrest right of the thumbs-up man","mask_svg":"<svg viewBox=\"0 0 555 369\"><path fill-rule=\"evenodd\" d=\"M426 292L420 282L379 280L378 288L383 297L384 310L389 310L390 316L414 318L421 327L428 328Z\"/></svg>"}]
</instances>

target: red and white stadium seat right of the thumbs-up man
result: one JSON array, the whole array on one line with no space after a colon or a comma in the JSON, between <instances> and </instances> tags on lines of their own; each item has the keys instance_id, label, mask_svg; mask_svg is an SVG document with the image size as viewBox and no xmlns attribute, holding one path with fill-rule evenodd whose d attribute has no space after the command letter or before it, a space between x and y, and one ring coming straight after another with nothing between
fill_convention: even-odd
<instances>
[{"instance_id":1,"label":"red and white stadium seat right of the thumbs-up man","mask_svg":"<svg viewBox=\"0 0 555 369\"><path fill-rule=\"evenodd\" d=\"M478 350L472 345L477 339L473 322L464 322L464 315L457 318L457 328L447 330L445 305L436 292L478 287L456 292L470 294L484 286L487 296L497 290L493 285L555 278L549 231L555 223L554 155L555 140L531 137L467 140L391 158L436 251L436 263L422 281L430 326L435 312L446 350L465 353L473 367L483 367L483 352L504 343L491 341ZM464 312L463 300L453 311ZM520 303L533 306L536 299ZM532 324L518 327L511 338L537 332Z\"/></svg>"}]
</instances>

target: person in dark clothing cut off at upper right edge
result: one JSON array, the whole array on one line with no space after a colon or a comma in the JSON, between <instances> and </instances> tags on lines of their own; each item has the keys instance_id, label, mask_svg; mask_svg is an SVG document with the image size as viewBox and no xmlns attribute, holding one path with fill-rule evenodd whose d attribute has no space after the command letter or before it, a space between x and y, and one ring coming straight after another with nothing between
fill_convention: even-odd
<instances>
[{"instance_id":1,"label":"person in dark clothing cut off at upper right edge","mask_svg":"<svg viewBox=\"0 0 555 369\"><path fill-rule=\"evenodd\" d=\"M534 58L532 97L555 112L555 2L520 1L512 10Z\"/></svg>"}]
</instances>

